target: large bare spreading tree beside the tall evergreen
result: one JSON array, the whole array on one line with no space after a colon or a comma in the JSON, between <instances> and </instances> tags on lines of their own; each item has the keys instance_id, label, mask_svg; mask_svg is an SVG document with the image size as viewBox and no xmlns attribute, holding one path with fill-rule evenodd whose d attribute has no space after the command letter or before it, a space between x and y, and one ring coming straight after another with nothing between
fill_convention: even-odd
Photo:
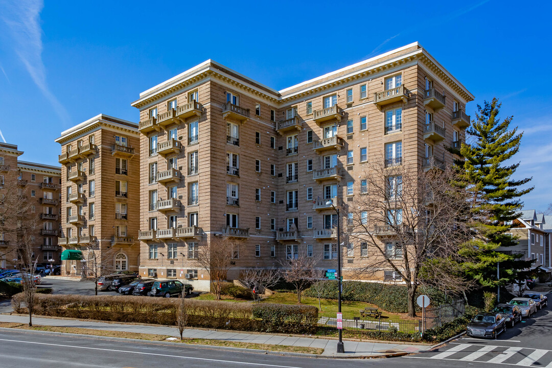
<instances>
[{"instance_id":1,"label":"large bare spreading tree beside the tall evergreen","mask_svg":"<svg viewBox=\"0 0 552 368\"><path fill-rule=\"evenodd\" d=\"M427 170L375 163L362 194L344 208L349 242L363 257L358 276L383 273L386 281L404 281L411 317L418 286L432 280L459 291L469 286L449 268L459 262L458 245L469 239L468 196L455 185L452 168L428 163Z\"/></svg>"}]
</instances>

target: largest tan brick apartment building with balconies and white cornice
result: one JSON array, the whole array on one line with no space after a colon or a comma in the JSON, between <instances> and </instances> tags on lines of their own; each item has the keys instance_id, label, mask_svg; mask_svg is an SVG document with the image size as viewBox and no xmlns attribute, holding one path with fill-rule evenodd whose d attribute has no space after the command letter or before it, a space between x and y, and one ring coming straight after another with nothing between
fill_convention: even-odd
<instances>
[{"instance_id":1,"label":"largest tan brick apartment building with balconies and white cornice","mask_svg":"<svg viewBox=\"0 0 552 368\"><path fill-rule=\"evenodd\" d=\"M241 238L229 278L306 254L335 268L338 206L368 163L443 168L474 97L417 43L275 90L208 60L140 94L140 273L208 290L195 262ZM342 221L345 219L342 219ZM382 238L384 242L384 238ZM391 247L392 247L392 243ZM343 246L343 273L362 246ZM398 253L397 253L398 254ZM382 270L378 280L395 280Z\"/></svg>"}]
</instances>

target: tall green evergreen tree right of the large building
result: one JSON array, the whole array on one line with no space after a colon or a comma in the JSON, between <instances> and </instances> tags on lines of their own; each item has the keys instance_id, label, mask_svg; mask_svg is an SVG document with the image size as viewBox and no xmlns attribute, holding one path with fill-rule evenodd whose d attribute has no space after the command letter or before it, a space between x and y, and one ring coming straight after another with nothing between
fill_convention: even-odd
<instances>
[{"instance_id":1,"label":"tall green evergreen tree right of the large building","mask_svg":"<svg viewBox=\"0 0 552 368\"><path fill-rule=\"evenodd\" d=\"M506 221L516 219L522 209L520 197L533 188L522 189L531 178L513 180L519 163L506 163L519 150L523 134L517 127L509 129L512 116L498 119L501 103L497 98L477 105L476 119L467 133L476 142L462 145L464 158L460 170L464 173L466 189L471 194L471 220L474 226L472 241L462 244L460 253L468 259L463 264L467 276L481 286L505 285L521 277L523 269L532 264L521 255L497 252L498 247L511 247L516 239L507 235ZM500 280L497 280L497 263L500 262Z\"/></svg>"}]
</instances>

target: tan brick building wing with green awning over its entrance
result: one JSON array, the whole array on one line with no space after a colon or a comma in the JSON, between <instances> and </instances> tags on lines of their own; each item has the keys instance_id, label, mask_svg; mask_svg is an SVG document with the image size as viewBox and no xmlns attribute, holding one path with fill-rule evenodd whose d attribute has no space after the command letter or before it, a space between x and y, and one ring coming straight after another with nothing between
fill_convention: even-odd
<instances>
[{"instance_id":1,"label":"tan brick building wing with green awning over its entrance","mask_svg":"<svg viewBox=\"0 0 552 368\"><path fill-rule=\"evenodd\" d=\"M140 247L138 125L100 114L61 133L62 275L137 270ZM90 273L90 270L88 270Z\"/></svg>"}]
</instances>

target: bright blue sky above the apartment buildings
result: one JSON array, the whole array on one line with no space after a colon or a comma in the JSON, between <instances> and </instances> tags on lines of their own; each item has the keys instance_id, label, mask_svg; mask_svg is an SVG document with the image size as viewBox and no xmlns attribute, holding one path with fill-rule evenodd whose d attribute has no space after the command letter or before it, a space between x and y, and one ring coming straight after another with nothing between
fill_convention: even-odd
<instances>
[{"instance_id":1,"label":"bright blue sky above the apartment buildings","mask_svg":"<svg viewBox=\"0 0 552 368\"><path fill-rule=\"evenodd\" d=\"M544 210L552 5L535 3L2 0L0 130L22 159L57 164L61 131L99 113L137 121L140 92L208 58L282 89L418 41L475 95L468 113L497 96L514 116L524 201Z\"/></svg>"}]
</instances>

